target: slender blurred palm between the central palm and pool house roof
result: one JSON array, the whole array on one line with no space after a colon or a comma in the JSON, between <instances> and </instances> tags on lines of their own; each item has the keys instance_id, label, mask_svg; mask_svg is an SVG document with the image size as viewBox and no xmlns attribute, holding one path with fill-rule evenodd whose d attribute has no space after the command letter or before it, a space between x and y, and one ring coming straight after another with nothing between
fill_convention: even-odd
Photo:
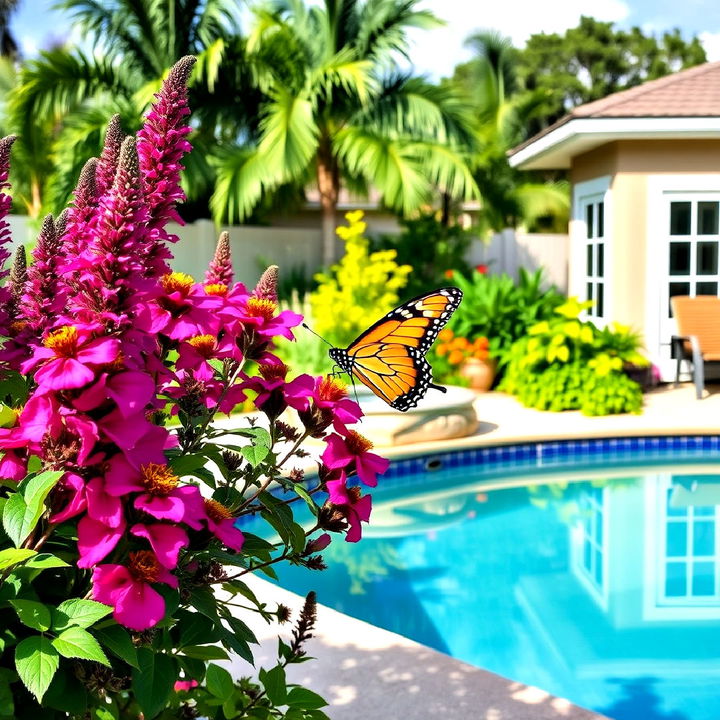
<instances>
[{"instance_id":1,"label":"slender blurred palm between the central palm and pool house roof","mask_svg":"<svg viewBox=\"0 0 720 720\"><path fill-rule=\"evenodd\" d=\"M568 183L538 182L507 161L507 151L525 139L528 119L540 104L537 95L520 92L516 49L494 31L475 33L466 45L475 57L456 69L454 79L469 97L477 118L481 150L474 158L473 175L482 196L483 224L495 232L532 225L547 216L554 217L559 226L566 224Z\"/></svg>"}]
</instances>

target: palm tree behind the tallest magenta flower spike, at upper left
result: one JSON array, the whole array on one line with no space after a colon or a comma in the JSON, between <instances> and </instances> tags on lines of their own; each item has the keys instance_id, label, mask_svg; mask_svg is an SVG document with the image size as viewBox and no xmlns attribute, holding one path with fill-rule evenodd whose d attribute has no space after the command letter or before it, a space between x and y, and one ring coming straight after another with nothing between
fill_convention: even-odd
<instances>
[{"instance_id":1,"label":"palm tree behind the tallest magenta flower spike, at upper left","mask_svg":"<svg viewBox=\"0 0 720 720\"><path fill-rule=\"evenodd\" d=\"M56 209L74 187L85 159L102 146L105 124L120 113L126 131L165 72L183 55L198 64L190 89L197 148L187 158L191 198L209 197L214 173L208 148L235 139L237 128L257 125L254 89L234 0L62 0L95 50L54 48L25 64L9 100L10 125L22 139L18 152L44 159L29 179L31 214ZM52 156L37 120L54 128Z\"/></svg>"}]
</instances>

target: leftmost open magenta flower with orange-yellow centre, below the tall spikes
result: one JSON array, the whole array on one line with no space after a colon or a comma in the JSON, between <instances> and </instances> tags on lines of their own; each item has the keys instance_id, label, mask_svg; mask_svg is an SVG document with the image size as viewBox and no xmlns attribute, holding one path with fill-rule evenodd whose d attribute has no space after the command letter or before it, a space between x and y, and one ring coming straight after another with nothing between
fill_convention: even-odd
<instances>
[{"instance_id":1,"label":"leftmost open magenta flower with orange-yellow centre, below the tall spikes","mask_svg":"<svg viewBox=\"0 0 720 720\"><path fill-rule=\"evenodd\" d=\"M35 382L43 391L71 390L95 378L95 367L117 360L120 342L115 338L95 338L88 330L65 325L51 332L33 356L23 363L27 373L40 365Z\"/></svg>"}]
</instances>

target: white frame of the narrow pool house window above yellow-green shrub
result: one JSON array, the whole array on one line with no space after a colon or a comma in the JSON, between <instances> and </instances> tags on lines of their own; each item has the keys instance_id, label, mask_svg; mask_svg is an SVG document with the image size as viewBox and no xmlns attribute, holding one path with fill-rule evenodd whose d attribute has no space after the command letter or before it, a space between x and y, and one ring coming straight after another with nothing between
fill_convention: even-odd
<instances>
[{"instance_id":1,"label":"white frame of the narrow pool house window above yellow-green shrub","mask_svg":"<svg viewBox=\"0 0 720 720\"><path fill-rule=\"evenodd\" d=\"M603 314L602 316L583 313L584 319L592 321L598 327L604 327L612 318L612 177L604 175L593 180L577 183L573 187L573 225L572 225L572 262L570 294L584 300L588 283L597 284L598 277L587 274L587 246L598 244L598 238L588 238L585 208L592 202L603 203ZM594 214L597 224L597 214Z\"/></svg>"}]
</instances>

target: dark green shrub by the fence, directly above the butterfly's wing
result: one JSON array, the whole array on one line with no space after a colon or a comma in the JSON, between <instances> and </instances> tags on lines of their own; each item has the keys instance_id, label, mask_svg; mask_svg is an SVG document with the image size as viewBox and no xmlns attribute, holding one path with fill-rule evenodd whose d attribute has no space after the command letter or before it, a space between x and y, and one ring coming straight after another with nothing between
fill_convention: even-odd
<instances>
[{"instance_id":1,"label":"dark green shrub by the fence, directly above the butterfly's wing","mask_svg":"<svg viewBox=\"0 0 720 720\"><path fill-rule=\"evenodd\" d=\"M373 241L373 248L395 250L398 262L412 267L404 297L415 297L447 284L451 271L470 272L465 255L473 239L472 232L461 225L444 225L435 213L398 222L402 231L397 235L381 235Z\"/></svg>"}]
</instances>

